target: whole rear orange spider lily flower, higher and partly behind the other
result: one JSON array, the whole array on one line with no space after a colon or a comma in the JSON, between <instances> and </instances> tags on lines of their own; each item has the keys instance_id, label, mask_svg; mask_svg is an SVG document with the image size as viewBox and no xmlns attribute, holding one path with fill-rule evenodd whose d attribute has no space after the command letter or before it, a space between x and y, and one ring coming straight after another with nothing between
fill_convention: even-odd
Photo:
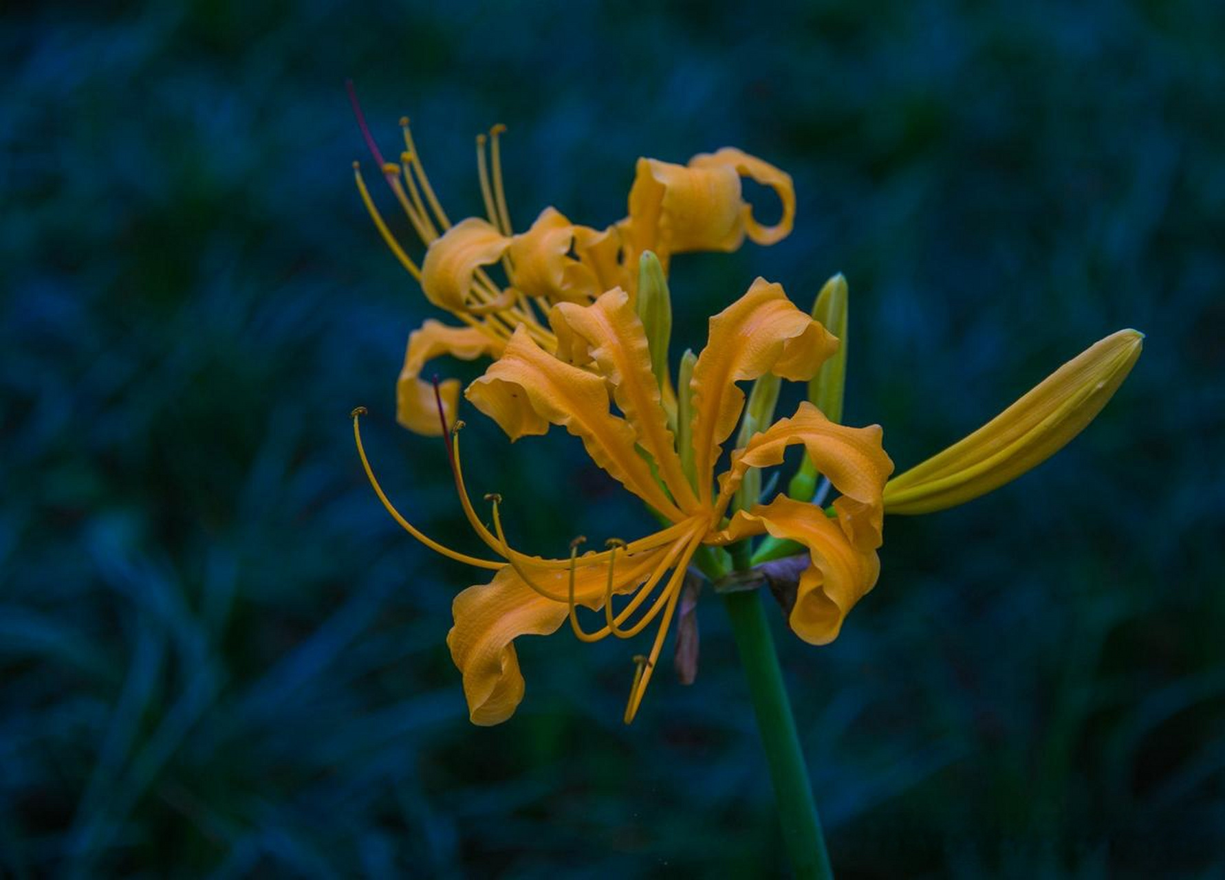
<instances>
[{"instance_id":1,"label":"whole rear orange spider lily flower, higher and partly behind the other","mask_svg":"<svg viewBox=\"0 0 1225 880\"><path fill-rule=\"evenodd\" d=\"M426 299L462 324L429 319L408 338L396 386L396 411L398 421L417 433L440 431L434 387L420 378L431 359L445 354L462 360L499 357L518 328L552 351L557 340L546 322L549 310L560 302L589 305L612 288L622 288L632 299L644 251L655 251L666 267L671 253L731 251L746 236L769 245L791 230L795 192L790 176L739 149L724 148L696 155L688 165L639 159L628 217L604 229L575 224L556 208L545 208L529 229L516 233L502 185L502 125L490 129L488 137L477 136L485 217L452 224L425 174L408 119L401 119L404 151L399 162L385 162L352 86L350 99L380 171L426 247L424 259L414 261L397 240L354 163L361 201ZM777 225L766 228L753 219L741 193L742 176L778 193L783 217ZM499 275L505 283L496 280ZM459 382L442 382L439 394L447 417L453 417Z\"/></svg>"}]
</instances>

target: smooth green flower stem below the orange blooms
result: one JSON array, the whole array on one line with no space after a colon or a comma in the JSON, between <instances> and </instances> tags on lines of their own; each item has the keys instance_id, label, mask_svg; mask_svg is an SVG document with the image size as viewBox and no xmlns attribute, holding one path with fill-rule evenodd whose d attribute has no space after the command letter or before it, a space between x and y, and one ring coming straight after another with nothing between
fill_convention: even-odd
<instances>
[{"instance_id":1,"label":"smooth green flower stem below the orange blooms","mask_svg":"<svg viewBox=\"0 0 1225 880\"><path fill-rule=\"evenodd\" d=\"M760 594L761 590L725 592L723 603L731 618L736 647L748 677L748 692L783 824L783 840L796 878L832 878L821 819L812 799L812 783L804 764L800 737L795 731L791 704L786 698Z\"/></svg>"}]
</instances>

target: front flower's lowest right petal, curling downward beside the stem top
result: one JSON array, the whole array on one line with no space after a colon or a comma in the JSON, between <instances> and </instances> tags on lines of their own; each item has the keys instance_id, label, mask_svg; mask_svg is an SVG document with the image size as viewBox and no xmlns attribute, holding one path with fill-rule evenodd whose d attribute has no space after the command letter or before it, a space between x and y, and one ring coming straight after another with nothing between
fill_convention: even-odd
<instances>
[{"instance_id":1,"label":"front flower's lowest right petal, curling downward beside the stem top","mask_svg":"<svg viewBox=\"0 0 1225 880\"><path fill-rule=\"evenodd\" d=\"M820 507L786 496L737 512L724 535L736 541L762 529L809 550L811 563L800 575L791 629L812 645L833 641L848 612L876 586L881 573L876 551L851 543Z\"/></svg>"}]
</instances>

